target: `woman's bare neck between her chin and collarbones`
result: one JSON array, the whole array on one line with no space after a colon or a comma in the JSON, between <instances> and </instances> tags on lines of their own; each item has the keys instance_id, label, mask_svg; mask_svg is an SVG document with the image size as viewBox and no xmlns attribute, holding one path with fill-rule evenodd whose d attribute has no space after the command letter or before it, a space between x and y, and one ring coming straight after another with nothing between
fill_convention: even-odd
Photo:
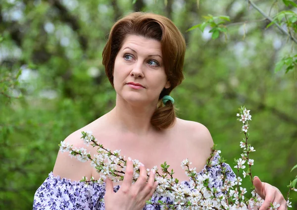
<instances>
[{"instance_id":1,"label":"woman's bare neck between her chin and collarbones","mask_svg":"<svg viewBox=\"0 0 297 210\"><path fill-rule=\"evenodd\" d=\"M150 119L156 106L157 103L131 105L117 97L116 105L109 113L113 124L121 131L144 136L154 130Z\"/></svg>"}]
</instances>

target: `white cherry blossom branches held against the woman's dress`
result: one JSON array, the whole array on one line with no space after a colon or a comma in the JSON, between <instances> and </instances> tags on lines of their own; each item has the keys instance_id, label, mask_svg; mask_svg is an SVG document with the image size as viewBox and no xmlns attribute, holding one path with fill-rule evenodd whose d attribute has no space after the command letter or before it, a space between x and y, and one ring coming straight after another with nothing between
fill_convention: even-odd
<instances>
[{"instance_id":1,"label":"white cherry blossom branches held against the woman's dress","mask_svg":"<svg viewBox=\"0 0 297 210\"><path fill-rule=\"evenodd\" d=\"M190 177L190 181L179 182L178 179L173 177L173 170L169 170L169 165L164 162L161 167L153 166L151 169L147 169L148 175L152 170L156 174L156 181L158 186L156 192L160 196L168 197L173 203L166 203L158 201L158 203L152 203L151 200L148 201L150 205L161 205L161 209L177 209L177 210L248 210L248 206L260 207L264 200L257 195L255 190L251 192L252 197L247 198L247 189L241 187L242 178L240 177L240 170L243 170L244 178L250 177L251 182L253 178L251 175L251 166L254 164L254 160L249 158L250 153L255 152L255 149L248 144L248 121L251 120L250 110L245 107L241 107L240 113L237 114L240 118L239 121L243 123L242 132L245 134L245 138L240 142L240 147L243 148L243 153L241 158L235 159L237 168L237 178L235 181L230 181L226 175L226 167L224 166L224 159L219 158L218 161L210 161L214 157L215 153L221 153L212 148L212 153L207 159L207 164L204 169L197 173L196 168L191 167L192 162L190 160L184 159L181 162L181 167L185 170L187 176ZM109 149L103 147L99 144L97 139L92 135L92 132L82 132L81 139L84 141L86 146L97 147L97 153L94 157L91 157L90 152L87 152L85 148L73 148L66 142L60 143L60 151L69 152L71 157L76 157L80 161L90 161L91 165L97 169L99 173L99 179L95 180L91 177L88 180L83 177L81 181L87 184L92 184L98 182L102 184L106 178L111 179L113 182L122 181L126 170L126 157L120 155L120 150L115 150L111 152ZM133 159L134 175L133 182L139 177L140 171L139 167L141 162L137 159ZM207 168L209 167L220 167L222 170L221 176L216 180L213 180ZM244 170L245 169L245 170ZM222 183L219 188L214 188L214 181ZM291 190L295 188L291 188ZM287 206L292 207L287 199ZM279 204L271 204L270 210L277 209Z\"/></svg>"}]
</instances>

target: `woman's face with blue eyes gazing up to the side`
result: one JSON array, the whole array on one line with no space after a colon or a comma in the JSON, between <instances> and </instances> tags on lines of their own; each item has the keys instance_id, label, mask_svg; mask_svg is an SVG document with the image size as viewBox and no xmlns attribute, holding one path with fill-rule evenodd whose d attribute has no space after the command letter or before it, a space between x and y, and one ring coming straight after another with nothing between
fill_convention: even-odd
<instances>
[{"instance_id":1,"label":"woman's face with blue eyes gazing up to the side","mask_svg":"<svg viewBox=\"0 0 297 210\"><path fill-rule=\"evenodd\" d=\"M170 87L160 42L127 35L115 58L113 84L118 97L133 105L156 105L163 88Z\"/></svg>"}]
</instances>

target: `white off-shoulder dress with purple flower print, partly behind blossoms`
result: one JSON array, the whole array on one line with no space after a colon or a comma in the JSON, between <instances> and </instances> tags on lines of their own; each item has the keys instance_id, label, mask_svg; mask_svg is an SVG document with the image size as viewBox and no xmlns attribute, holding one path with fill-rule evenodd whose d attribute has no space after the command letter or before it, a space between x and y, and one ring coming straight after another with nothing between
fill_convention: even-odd
<instances>
[{"instance_id":1,"label":"white off-shoulder dress with purple flower print, partly behind blossoms","mask_svg":"<svg viewBox=\"0 0 297 210\"><path fill-rule=\"evenodd\" d=\"M215 187L220 189L222 181L219 177L222 173L222 168L219 164L216 164L219 159L219 154L216 153L212 160L212 166L206 165L200 172L207 170L210 172L214 182L211 188ZM227 163L223 163L223 167L226 167L226 178L230 181L235 181L236 175L232 171L231 167ZM183 181L181 184L190 187L188 181ZM119 190L120 186L114 187L114 192ZM102 198L105 194L105 183L92 183L86 185L83 182L71 181L59 176L54 177L52 172L49 173L49 177L38 188L34 196L33 210L105 210L104 202ZM173 204L170 198L163 197L154 193L152 196L151 204L147 204L144 210L160 210L158 200Z\"/></svg>"}]
</instances>

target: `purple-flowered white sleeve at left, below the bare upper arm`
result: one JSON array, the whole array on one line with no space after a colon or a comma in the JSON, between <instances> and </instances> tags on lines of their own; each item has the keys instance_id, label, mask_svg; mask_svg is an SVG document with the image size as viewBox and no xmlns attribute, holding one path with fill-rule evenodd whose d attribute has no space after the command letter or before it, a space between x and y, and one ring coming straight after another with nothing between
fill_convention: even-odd
<instances>
[{"instance_id":1,"label":"purple-flowered white sleeve at left, below the bare upper arm","mask_svg":"<svg viewBox=\"0 0 297 210\"><path fill-rule=\"evenodd\" d=\"M52 172L34 195L33 210L101 210L105 187L54 177Z\"/></svg>"}]
</instances>

